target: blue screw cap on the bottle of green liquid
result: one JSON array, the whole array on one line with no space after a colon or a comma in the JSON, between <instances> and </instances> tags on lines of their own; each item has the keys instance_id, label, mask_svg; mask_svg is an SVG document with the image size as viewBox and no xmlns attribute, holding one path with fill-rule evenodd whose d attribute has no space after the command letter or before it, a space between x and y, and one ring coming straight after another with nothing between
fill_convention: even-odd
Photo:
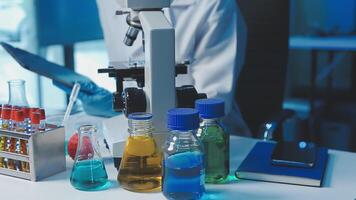
<instances>
[{"instance_id":1,"label":"blue screw cap on the bottle of green liquid","mask_svg":"<svg viewBox=\"0 0 356 200\"><path fill-rule=\"evenodd\" d=\"M199 99L195 101L195 108L203 119L213 119L225 116L225 103L223 99Z\"/></svg>"}]
</instances>

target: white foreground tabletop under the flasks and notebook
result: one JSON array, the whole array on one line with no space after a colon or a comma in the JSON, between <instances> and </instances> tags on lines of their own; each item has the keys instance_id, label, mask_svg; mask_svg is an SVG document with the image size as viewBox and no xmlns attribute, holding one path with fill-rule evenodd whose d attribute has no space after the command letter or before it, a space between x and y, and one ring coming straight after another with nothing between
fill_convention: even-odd
<instances>
[{"instance_id":1,"label":"white foreground tabletop under the flasks and notebook","mask_svg":"<svg viewBox=\"0 0 356 200\"><path fill-rule=\"evenodd\" d=\"M256 140L231 138L231 175L244 159ZM207 185L204 199L355 199L356 154L329 151L324 187L285 185L234 179L229 184ZM107 154L107 152L104 152ZM1 199L23 200L110 200L110 199L164 199L161 193L134 193L126 191L116 181L117 172L110 159L105 159L112 187L105 191L83 192L75 190L69 176L73 162L68 159L67 171L40 182L30 182L0 175Z\"/></svg>"}]
</instances>

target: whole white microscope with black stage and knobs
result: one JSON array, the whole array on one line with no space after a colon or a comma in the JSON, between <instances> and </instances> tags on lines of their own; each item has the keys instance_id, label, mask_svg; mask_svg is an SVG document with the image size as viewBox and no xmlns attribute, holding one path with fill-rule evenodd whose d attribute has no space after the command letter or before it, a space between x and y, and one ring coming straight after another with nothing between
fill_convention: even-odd
<instances>
[{"instance_id":1,"label":"whole white microscope with black stage and knobs","mask_svg":"<svg viewBox=\"0 0 356 200\"><path fill-rule=\"evenodd\" d=\"M194 107L196 99L206 98L191 85L176 88L175 77L187 74L188 62L176 64L175 31L163 13L172 0L117 0L121 8L117 15L127 15L129 25L124 39L132 46L142 31L142 45L145 54L144 64L130 63L126 66L109 66L99 69L99 73L108 73L116 80L116 92L113 93L113 109L125 116L134 112L153 114L154 137L158 145L164 141L167 111L175 107ZM138 41L136 41L138 42ZM142 66L143 65L143 66ZM137 87L125 88L124 81L136 81ZM124 115L120 116L124 118ZM119 119L120 129L127 131L127 120ZM123 121L123 122L122 122ZM116 123L117 124L117 123ZM122 131L116 132L121 134ZM114 158L121 157L124 143L118 141L118 135L105 135ZM158 137L163 135L163 137ZM115 162L117 163L117 162Z\"/></svg>"}]
</instances>

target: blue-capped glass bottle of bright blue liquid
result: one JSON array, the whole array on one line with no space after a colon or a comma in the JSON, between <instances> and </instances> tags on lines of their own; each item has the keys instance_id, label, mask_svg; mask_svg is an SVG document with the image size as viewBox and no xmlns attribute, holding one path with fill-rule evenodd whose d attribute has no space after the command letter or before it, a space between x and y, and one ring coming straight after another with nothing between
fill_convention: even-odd
<instances>
[{"instance_id":1,"label":"blue-capped glass bottle of bright blue liquid","mask_svg":"<svg viewBox=\"0 0 356 200\"><path fill-rule=\"evenodd\" d=\"M163 194L167 199L200 199L205 192L205 168L203 147L195 135L198 111L171 109L167 126L170 135L163 147Z\"/></svg>"}]
</instances>

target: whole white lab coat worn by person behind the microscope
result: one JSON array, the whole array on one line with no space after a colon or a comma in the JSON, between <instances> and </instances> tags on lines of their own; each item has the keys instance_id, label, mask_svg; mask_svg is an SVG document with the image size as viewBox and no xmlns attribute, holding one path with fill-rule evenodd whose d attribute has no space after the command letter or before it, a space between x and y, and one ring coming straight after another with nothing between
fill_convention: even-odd
<instances>
[{"instance_id":1,"label":"whole white lab coat worn by person behind the microscope","mask_svg":"<svg viewBox=\"0 0 356 200\"><path fill-rule=\"evenodd\" d=\"M141 34L132 47L123 43L128 25L126 16L115 15L121 10L116 0L97 4L110 62L143 59ZM191 62L176 85L194 85L209 98L223 98L225 128L231 134L250 135L234 98L247 36L235 0L175 0L164 13L175 28L176 62Z\"/></svg>"}]
</instances>

